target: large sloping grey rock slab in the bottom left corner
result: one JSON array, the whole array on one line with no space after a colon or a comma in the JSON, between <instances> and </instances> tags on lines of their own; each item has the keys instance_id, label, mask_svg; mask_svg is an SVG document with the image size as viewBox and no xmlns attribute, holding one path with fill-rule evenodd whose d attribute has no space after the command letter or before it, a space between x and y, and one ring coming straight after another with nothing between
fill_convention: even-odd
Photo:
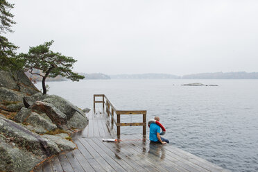
<instances>
[{"instance_id":1,"label":"large sloping grey rock slab in the bottom left corner","mask_svg":"<svg viewBox=\"0 0 258 172\"><path fill-rule=\"evenodd\" d=\"M37 135L22 124L0 117L0 171L31 171L46 157L76 145L68 135Z\"/></svg>"}]
</instances>

